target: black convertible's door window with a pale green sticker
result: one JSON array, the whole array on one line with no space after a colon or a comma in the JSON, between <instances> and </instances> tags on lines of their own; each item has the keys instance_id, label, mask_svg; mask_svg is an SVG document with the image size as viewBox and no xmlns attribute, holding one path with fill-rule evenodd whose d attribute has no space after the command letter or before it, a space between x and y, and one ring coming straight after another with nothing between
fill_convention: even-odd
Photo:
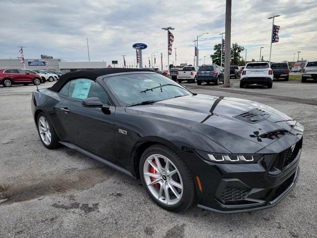
<instances>
[{"instance_id":1,"label":"black convertible's door window with a pale green sticker","mask_svg":"<svg viewBox=\"0 0 317 238\"><path fill-rule=\"evenodd\" d=\"M108 96L102 86L86 78L75 79L69 82L68 97L76 99L97 97L103 104L108 104Z\"/></svg>"}]
</instances>

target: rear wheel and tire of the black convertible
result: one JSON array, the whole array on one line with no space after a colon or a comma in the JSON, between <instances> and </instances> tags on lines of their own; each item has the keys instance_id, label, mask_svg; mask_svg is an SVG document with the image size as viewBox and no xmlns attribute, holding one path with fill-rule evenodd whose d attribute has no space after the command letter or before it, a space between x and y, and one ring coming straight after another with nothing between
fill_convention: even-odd
<instances>
[{"instance_id":1,"label":"rear wheel and tire of the black convertible","mask_svg":"<svg viewBox=\"0 0 317 238\"><path fill-rule=\"evenodd\" d=\"M45 119L46 123L43 122L43 120L42 120L43 118ZM38 118L36 121L37 121L36 125L37 125L37 129L38 129L38 133L39 133L40 140L41 140L42 144L46 148L49 148L49 149L57 148L59 146L58 138L57 138L57 135L55 133L52 122L49 119L49 117L45 113L40 113L38 115ZM39 123L41 124L41 127L44 128L44 130L39 126ZM45 130L47 131L47 133L45 133L45 132L42 133ZM49 141L49 138L46 137L46 134L49 135L49 133L51 134L51 141ZM44 138L42 138L42 135L44 136Z\"/></svg>"}]
</instances>

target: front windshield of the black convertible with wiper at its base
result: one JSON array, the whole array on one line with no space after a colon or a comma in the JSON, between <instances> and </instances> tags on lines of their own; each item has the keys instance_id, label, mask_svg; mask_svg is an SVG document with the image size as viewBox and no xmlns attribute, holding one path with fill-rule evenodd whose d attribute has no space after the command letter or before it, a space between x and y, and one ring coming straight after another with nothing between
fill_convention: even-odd
<instances>
[{"instance_id":1,"label":"front windshield of the black convertible with wiper at its base","mask_svg":"<svg viewBox=\"0 0 317 238\"><path fill-rule=\"evenodd\" d=\"M119 103L124 106L191 95L184 87L158 73L124 74L105 80Z\"/></svg>"}]
</instances>

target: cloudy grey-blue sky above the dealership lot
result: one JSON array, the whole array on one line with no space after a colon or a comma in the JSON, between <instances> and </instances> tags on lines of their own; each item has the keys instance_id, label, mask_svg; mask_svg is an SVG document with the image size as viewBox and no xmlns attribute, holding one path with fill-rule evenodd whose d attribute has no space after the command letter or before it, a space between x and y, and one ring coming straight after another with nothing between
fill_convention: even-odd
<instances>
[{"instance_id":1,"label":"cloudy grey-blue sky above the dealership lot","mask_svg":"<svg viewBox=\"0 0 317 238\"><path fill-rule=\"evenodd\" d=\"M225 0L0 0L0 59L16 58L17 46L26 46L26 59L51 55L67 61L88 61L86 37L91 61L118 60L126 55L135 59L133 43L146 43L143 61L148 65L151 53L163 53L166 65L166 31L175 28L173 48L177 63L192 63L197 35L200 59L210 63L213 46L221 43L225 26ZM264 47L269 57L271 20L280 28L280 41L273 44L272 60L317 60L316 0L233 0L231 43L247 49L247 60L258 60ZM159 58L158 53L156 53ZM242 53L245 57L245 52ZM175 59L174 49L170 63ZM297 55L295 57L297 59ZM157 60L157 65L159 59Z\"/></svg>"}]
</instances>

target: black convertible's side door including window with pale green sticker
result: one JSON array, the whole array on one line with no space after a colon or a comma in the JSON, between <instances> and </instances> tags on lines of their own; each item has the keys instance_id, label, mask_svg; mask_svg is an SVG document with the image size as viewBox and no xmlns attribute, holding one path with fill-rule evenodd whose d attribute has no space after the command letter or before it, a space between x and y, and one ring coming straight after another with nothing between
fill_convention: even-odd
<instances>
[{"instance_id":1,"label":"black convertible's side door including window with pale green sticker","mask_svg":"<svg viewBox=\"0 0 317 238\"><path fill-rule=\"evenodd\" d=\"M61 127L60 139L113 161L115 107L104 88L93 80L79 78L68 82L59 93L63 98L57 113ZM84 107L82 100L89 97L98 97L104 106L109 107L110 112Z\"/></svg>"}]
</instances>

